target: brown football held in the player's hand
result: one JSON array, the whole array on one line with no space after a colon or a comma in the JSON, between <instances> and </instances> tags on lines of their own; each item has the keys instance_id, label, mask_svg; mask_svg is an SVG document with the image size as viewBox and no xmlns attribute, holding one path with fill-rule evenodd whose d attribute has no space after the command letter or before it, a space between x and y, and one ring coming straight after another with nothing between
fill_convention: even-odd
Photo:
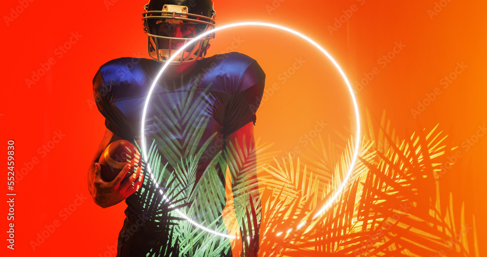
<instances>
[{"instance_id":1,"label":"brown football held in the player's hand","mask_svg":"<svg viewBox=\"0 0 487 257\"><path fill-rule=\"evenodd\" d=\"M115 179L123 167L129 163L131 164L131 169L125 178L130 177L137 167L142 166L142 158L135 145L131 142L117 140L107 146L101 154L98 163L101 167L101 178L103 181L109 182Z\"/></svg>"}]
</instances>

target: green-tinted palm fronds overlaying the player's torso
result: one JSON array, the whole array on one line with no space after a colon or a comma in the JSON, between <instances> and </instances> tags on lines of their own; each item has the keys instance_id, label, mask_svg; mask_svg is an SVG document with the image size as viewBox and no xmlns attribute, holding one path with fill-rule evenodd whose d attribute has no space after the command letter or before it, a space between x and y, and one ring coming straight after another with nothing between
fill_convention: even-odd
<instances>
[{"instance_id":1,"label":"green-tinted palm fronds overlaying the player's torso","mask_svg":"<svg viewBox=\"0 0 487 257\"><path fill-rule=\"evenodd\" d=\"M199 77L195 84L198 84L198 79ZM177 98L164 99L156 95L151 100L155 102L150 107L154 108L155 115L149 117L147 126L157 131L151 138L147 151L147 163L152 176L146 176L146 186L137 192L138 203L150 210L153 220L170 233L167 242L152 249L150 256L231 255L228 238L201 230L185 221L180 214L218 233L235 233L243 238L255 238L259 235L260 223L257 220L260 218L260 198L255 188L254 191L249 190L251 184L258 185L257 179L244 178L250 172L255 172L255 167L248 163L255 161L256 153L262 152L266 147L249 151L245 148L245 142L244 145L240 144L242 142L228 142L229 149L217 153L209 161L201 177L198 179L196 176L203 152L216 135L215 133L206 139L203 145L197 144L205 132L208 117L211 117L211 94L206 94L209 87L210 85L200 94L195 94L196 87L193 86L188 92L180 92ZM192 102L196 104L190 104ZM137 147L140 149L138 144ZM227 168L227 163L230 168ZM234 212L234 204L232 202L228 206L225 181L222 181L220 174L222 171L231 171L230 180L235 192L235 198L232 199L235 199L235 204L249 205L248 201L252 201L249 208L237 212L236 219L241 221L240 226L233 224L237 228L227 227L228 217L223 217L225 213ZM248 198L251 192L254 196ZM174 206L168 206L168 202ZM229 210L224 212L225 204ZM176 209L180 213L175 212ZM247 225L248 227L242 227ZM248 245L248 240L243 241L245 247L242 252L251 252L253 248ZM255 242L258 243L258 238Z\"/></svg>"}]
</instances>

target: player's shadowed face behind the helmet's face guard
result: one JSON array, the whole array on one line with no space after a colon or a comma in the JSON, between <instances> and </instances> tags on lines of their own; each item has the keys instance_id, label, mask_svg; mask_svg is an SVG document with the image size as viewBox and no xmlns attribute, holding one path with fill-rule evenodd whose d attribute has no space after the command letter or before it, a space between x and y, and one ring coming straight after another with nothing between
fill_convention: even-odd
<instances>
[{"instance_id":1,"label":"player's shadowed face behind the helmet's face guard","mask_svg":"<svg viewBox=\"0 0 487 257\"><path fill-rule=\"evenodd\" d=\"M196 35L196 24L180 23L174 24L169 22L161 22L154 27L156 35L172 38L194 38ZM172 40L171 49L177 50L184 45L184 40ZM159 48L168 49L169 40L159 39Z\"/></svg>"}]
</instances>

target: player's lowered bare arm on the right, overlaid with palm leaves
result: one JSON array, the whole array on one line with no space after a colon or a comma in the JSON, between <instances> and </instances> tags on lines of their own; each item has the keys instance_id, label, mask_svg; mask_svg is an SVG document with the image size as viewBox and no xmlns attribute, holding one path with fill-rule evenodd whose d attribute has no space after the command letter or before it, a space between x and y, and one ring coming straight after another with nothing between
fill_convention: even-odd
<instances>
[{"instance_id":1,"label":"player's lowered bare arm on the right, overlaid with palm leaves","mask_svg":"<svg viewBox=\"0 0 487 257\"><path fill-rule=\"evenodd\" d=\"M244 224L241 219L238 220L241 228L241 235L243 226L246 227L247 237L252 235L251 238L242 239L245 256L257 256L259 251L259 230L261 225L261 201L256 172L253 122L247 123L242 128L225 137L225 152L228 168L232 176L235 213L244 214L244 217L246 217L245 213L248 212L251 217L251 224L245 224L247 223L246 218L244 218ZM254 208L251 207L250 199L252 199ZM256 211L255 217L253 217L252 209ZM239 215L237 215L237 217L238 216ZM257 220L257 223L254 220Z\"/></svg>"}]
</instances>

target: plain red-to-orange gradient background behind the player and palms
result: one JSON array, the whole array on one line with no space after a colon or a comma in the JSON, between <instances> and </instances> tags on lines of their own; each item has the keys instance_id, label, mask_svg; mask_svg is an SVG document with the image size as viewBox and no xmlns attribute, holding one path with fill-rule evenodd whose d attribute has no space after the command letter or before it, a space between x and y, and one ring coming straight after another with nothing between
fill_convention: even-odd
<instances>
[{"instance_id":1,"label":"plain red-to-orange gradient background behind the player and palms","mask_svg":"<svg viewBox=\"0 0 487 257\"><path fill-rule=\"evenodd\" d=\"M146 1L26 2L25 8L18 7L18 0L1 2L0 149L4 149L6 175L7 140L15 140L17 170L16 250L4 250L3 241L2 252L8 254L4 256L103 255L116 246L126 205L102 209L87 189L88 164L106 129L94 105L92 79L110 59L148 58L141 21ZM215 10L219 25L266 21L309 36L336 58L352 84L367 82L356 92L362 114L367 108L379 120L385 111L391 127L403 138L439 123L439 129L450 135L448 140L460 146L475 135L478 126L487 124L487 2L451 0L431 16L435 2L439 0L215 0ZM335 24L353 4L358 10L350 18L342 17L341 26ZM22 12L16 17L11 8ZM15 19L5 20L6 16ZM329 26L336 31L331 33ZM81 37L59 55L58 47L72 33ZM235 39L240 43L232 45ZM393 51L395 43L405 46L383 65L381 58ZM356 125L350 119L354 113L345 84L311 45L281 31L241 27L217 34L209 55L229 50L256 59L266 73L268 98L262 101L255 127L262 142L274 143L273 149L283 154L296 146L304 150L307 146L300 138L320 120L327 124L322 135L339 132L351 137ZM32 79L33 72L50 58L56 63L29 88L25 80ZM296 59L305 62L283 79L282 72L292 71ZM444 88L441 79L454 72L457 63L467 67ZM379 73L366 79L375 67ZM273 84L277 90L272 90ZM417 109L418 101L428 99L426 94L435 88L441 94L413 116L411 110ZM65 136L50 143L56 132ZM481 137L468 150L461 148L462 158L440 179L441 194L451 193L459 207L465 202L467 223L472 215L476 217L480 256L487 256L483 243L487 241L486 140ZM343 138L331 136L330 141ZM44 153L42 146L47 144L52 149ZM31 164L33 158L39 162ZM73 205L80 203L75 201L78 197L86 199ZM1 205L1 230L5 231L8 208L5 201ZM64 208L70 205L68 214ZM55 220L60 225L34 251L30 242Z\"/></svg>"}]
</instances>

